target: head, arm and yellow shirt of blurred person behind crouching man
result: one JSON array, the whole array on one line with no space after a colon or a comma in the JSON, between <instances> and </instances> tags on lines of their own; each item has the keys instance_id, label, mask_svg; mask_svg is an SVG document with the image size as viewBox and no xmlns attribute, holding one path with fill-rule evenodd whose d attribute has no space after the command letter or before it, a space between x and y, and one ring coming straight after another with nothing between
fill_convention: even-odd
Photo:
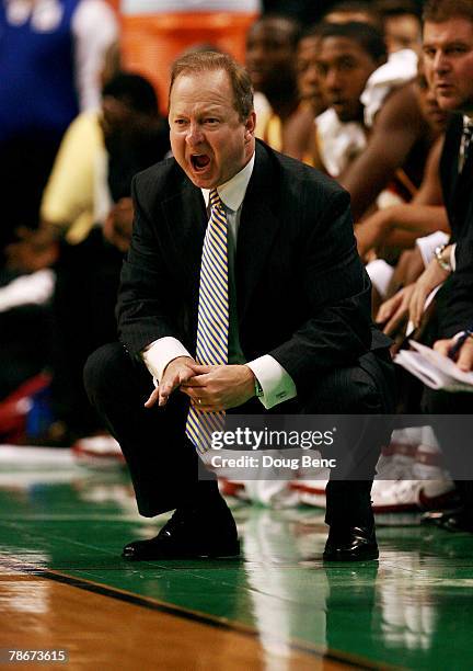
<instances>
[{"instance_id":1,"label":"head, arm and yellow shirt of blurred person behind crouching man","mask_svg":"<svg viewBox=\"0 0 473 671\"><path fill-rule=\"evenodd\" d=\"M152 87L138 75L115 75L104 84L102 110L80 114L68 128L44 192L42 226L9 248L10 264L37 270L38 244L57 237L81 242L104 224L112 202L129 193L131 175L168 150L168 125L157 114Z\"/></svg>"}]
</instances>

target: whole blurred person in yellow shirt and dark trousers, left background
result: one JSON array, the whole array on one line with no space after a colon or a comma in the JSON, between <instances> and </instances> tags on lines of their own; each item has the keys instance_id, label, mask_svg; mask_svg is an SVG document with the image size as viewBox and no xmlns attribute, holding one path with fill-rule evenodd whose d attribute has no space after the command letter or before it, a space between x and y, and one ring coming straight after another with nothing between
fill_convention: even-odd
<instances>
[{"instance_id":1,"label":"whole blurred person in yellow shirt and dark trousers, left background","mask_svg":"<svg viewBox=\"0 0 473 671\"><path fill-rule=\"evenodd\" d=\"M19 263L34 259L34 247L42 236L53 248L59 239L53 310L51 396L56 422L39 436L48 444L68 444L99 428L82 389L83 363L92 350L115 337L116 289L131 236L131 179L162 159L170 147L168 124L158 114L154 90L138 75L112 78L103 89L101 115L83 116L84 128L89 129L94 118L99 141L95 138L92 147L88 145L88 136L78 127L79 117L65 137L45 193L45 200L57 203L56 208L49 206L49 212L62 213L64 218L44 221L14 250ZM77 160L81 148L85 148L82 161ZM88 182L84 201L78 185ZM97 206L97 202L106 206ZM71 226L81 214L86 215L88 227L68 241ZM30 251L24 253L22 247L30 247Z\"/></svg>"}]
</instances>

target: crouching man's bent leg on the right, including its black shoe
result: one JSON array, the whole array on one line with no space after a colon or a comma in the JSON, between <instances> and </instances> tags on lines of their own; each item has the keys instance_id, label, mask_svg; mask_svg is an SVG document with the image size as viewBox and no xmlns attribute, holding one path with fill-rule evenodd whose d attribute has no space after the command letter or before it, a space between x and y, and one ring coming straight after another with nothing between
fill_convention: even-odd
<instances>
[{"instance_id":1,"label":"crouching man's bent leg on the right, including its black shoe","mask_svg":"<svg viewBox=\"0 0 473 671\"><path fill-rule=\"evenodd\" d=\"M394 406L394 374L388 353L370 352L359 365L331 371L314 384L302 412L338 414L337 469L326 487L330 535L324 558L361 560L378 557L370 492L381 447L392 427L379 414ZM349 417L343 417L349 416ZM332 454L331 454L332 456Z\"/></svg>"}]
</instances>

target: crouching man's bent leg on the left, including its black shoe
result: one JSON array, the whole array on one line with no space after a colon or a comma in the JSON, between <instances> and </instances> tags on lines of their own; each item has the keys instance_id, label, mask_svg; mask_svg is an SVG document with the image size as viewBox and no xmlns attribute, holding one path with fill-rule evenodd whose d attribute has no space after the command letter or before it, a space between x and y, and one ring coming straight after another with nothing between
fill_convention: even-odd
<instances>
[{"instance_id":1,"label":"crouching man's bent leg on the left, including its black shoe","mask_svg":"<svg viewBox=\"0 0 473 671\"><path fill-rule=\"evenodd\" d=\"M236 554L233 519L217 481L198 480L198 460L185 436L188 401L175 391L164 408L147 409L152 379L119 343L104 345L88 360L85 389L91 403L120 444L139 512L154 516L176 509L157 538L131 544L132 559L200 554ZM163 533L164 532L164 533Z\"/></svg>"}]
</instances>

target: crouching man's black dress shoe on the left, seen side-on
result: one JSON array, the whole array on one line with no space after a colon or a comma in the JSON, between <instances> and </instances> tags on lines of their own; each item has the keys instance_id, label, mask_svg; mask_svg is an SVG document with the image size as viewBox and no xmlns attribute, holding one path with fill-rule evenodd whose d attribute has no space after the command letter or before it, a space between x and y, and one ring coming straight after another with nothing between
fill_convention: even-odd
<instances>
[{"instance_id":1,"label":"crouching man's black dress shoe on the left, seen side-on","mask_svg":"<svg viewBox=\"0 0 473 671\"><path fill-rule=\"evenodd\" d=\"M150 561L239 556L236 526L227 505L212 519L209 512L207 510L206 516L205 510L177 509L158 536L129 543L122 557L131 561Z\"/></svg>"}]
</instances>

